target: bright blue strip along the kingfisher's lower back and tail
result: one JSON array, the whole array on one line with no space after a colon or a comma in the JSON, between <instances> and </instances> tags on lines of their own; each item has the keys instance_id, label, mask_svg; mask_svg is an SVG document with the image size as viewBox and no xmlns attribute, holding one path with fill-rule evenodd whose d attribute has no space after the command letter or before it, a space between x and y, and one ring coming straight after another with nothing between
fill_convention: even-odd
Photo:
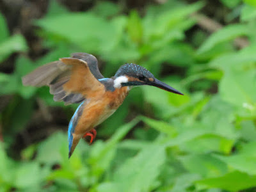
<instances>
[{"instance_id":1,"label":"bright blue strip along the kingfisher's lower back and tail","mask_svg":"<svg viewBox=\"0 0 256 192\"><path fill-rule=\"evenodd\" d=\"M71 147L72 147L72 144L73 144L73 133L76 129L76 125L77 125L77 122L80 118L80 116L82 115L83 113L83 105L84 105L84 102L82 102L78 108L76 109L76 112L74 113L74 115L72 116L69 124L68 124L68 150L69 150L69 156L71 155L70 151L71 151Z\"/></svg>"}]
</instances>

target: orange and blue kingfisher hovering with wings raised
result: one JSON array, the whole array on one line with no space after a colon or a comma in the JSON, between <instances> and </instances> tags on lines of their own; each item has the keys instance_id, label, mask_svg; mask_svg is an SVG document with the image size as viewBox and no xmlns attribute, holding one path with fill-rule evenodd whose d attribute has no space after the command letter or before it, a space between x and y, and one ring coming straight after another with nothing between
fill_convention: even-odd
<instances>
[{"instance_id":1,"label":"orange and blue kingfisher hovering with wings raised","mask_svg":"<svg viewBox=\"0 0 256 192\"><path fill-rule=\"evenodd\" d=\"M63 101L65 105L80 103L68 124L68 158L81 138L90 136L90 143L93 142L97 135L95 127L115 113L133 86L156 86L183 95L133 63L122 65L115 76L105 78L99 71L97 58L84 52L38 67L22 77L22 83L49 86L54 101Z\"/></svg>"}]
</instances>

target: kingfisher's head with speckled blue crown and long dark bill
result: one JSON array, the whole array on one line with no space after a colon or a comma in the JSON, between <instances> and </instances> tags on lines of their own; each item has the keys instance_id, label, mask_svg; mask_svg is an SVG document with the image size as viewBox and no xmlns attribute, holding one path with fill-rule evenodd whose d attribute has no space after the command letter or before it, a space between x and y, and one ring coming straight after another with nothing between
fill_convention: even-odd
<instances>
[{"instance_id":1,"label":"kingfisher's head with speckled blue crown and long dark bill","mask_svg":"<svg viewBox=\"0 0 256 192\"><path fill-rule=\"evenodd\" d=\"M156 86L168 92L183 95L178 90L175 90L175 88L172 88L172 86L169 86L168 84L156 79L156 77L154 77L153 74L150 73L146 68L133 63L122 65L114 76L115 88L139 85Z\"/></svg>"}]
</instances>

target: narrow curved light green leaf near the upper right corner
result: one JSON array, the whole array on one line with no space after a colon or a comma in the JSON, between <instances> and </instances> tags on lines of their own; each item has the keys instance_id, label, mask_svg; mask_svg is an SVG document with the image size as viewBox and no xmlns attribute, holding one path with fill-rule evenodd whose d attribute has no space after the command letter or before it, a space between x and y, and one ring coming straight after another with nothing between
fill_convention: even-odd
<instances>
[{"instance_id":1,"label":"narrow curved light green leaf near the upper right corner","mask_svg":"<svg viewBox=\"0 0 256 192\"><path fill-rule=\"evenodd\" d=\"M220 29L213 33L198 49L197 54L204 54L207 51L210 51L212 47L221 42L227 42L233 40L237 36L249 35L250 31L248 27L243 24L232 24L226 26L225 28Z\"/></svg>"}]
</instances>

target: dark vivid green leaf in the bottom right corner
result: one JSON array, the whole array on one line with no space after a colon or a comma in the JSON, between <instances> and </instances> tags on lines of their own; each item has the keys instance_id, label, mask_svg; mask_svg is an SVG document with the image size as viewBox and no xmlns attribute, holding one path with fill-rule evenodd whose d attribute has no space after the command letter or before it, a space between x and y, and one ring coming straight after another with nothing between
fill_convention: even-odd
<instances>
[{"instance_id":1,"label":"dark vivid green leaf in the bottom right corner","mask_svg":"<svg viewBox=\"0 0 256 192\"><path fill-rule=\"evenodd\" d=\"M240 191L256 186L256 176L243 172L231 172L221 177L202 179L196 182L196 189L220 188L227 191Z\"/></svg>"}]
</instances>

